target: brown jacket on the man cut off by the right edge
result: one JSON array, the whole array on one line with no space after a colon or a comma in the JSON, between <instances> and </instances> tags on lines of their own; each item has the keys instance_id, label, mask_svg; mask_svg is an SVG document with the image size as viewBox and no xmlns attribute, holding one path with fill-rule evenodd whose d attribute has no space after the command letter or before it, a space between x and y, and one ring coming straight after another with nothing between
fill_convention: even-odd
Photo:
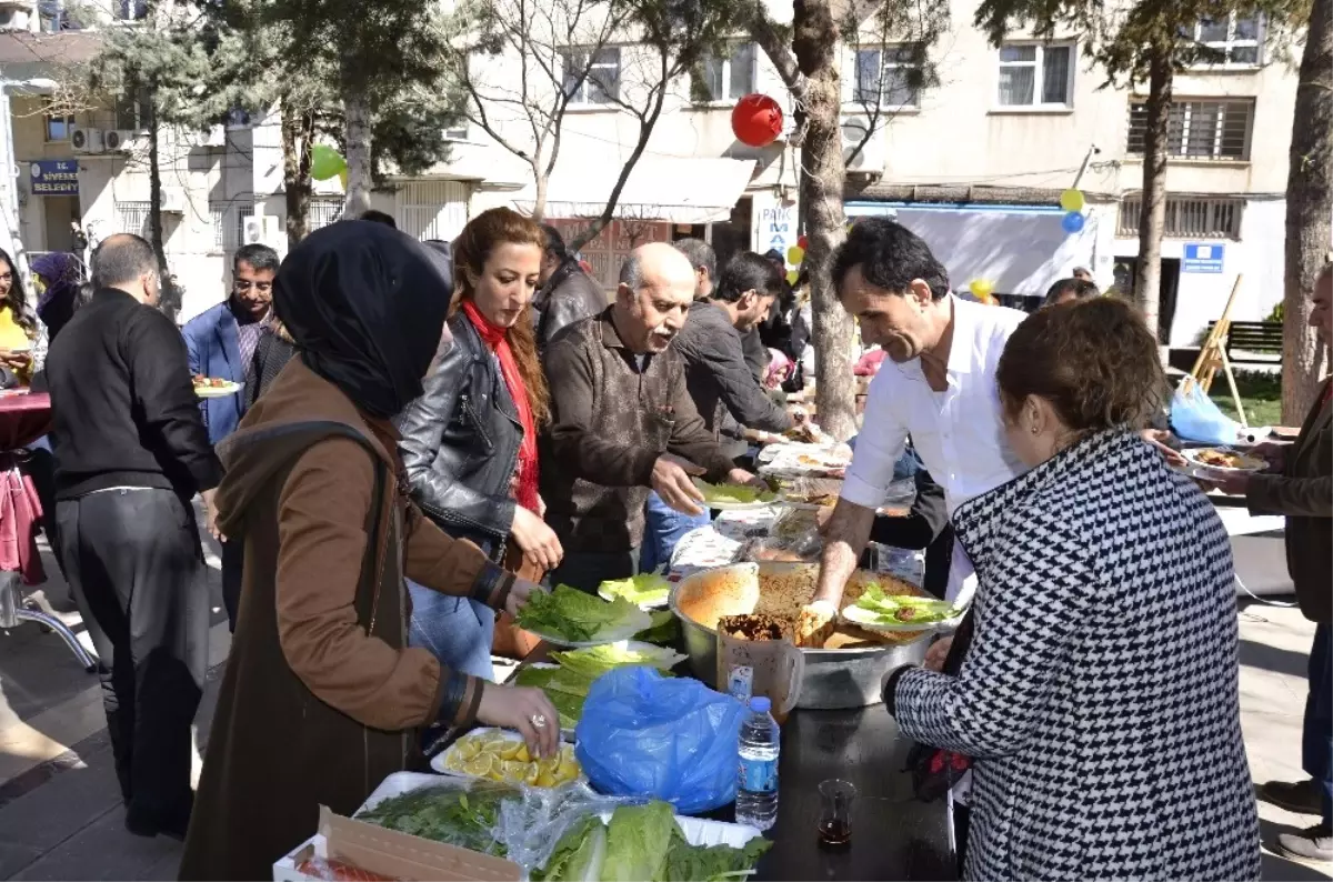
<instances>
[{"instance_id":1,"label":"brown jacket on the man cut off by the right edge","mask_svg":"<svg viewBox=\"0 0 1333 882\"><path fill-rule=\"evenodd\" d=\"M1320 389L1310 414L1286 454L1282 474L1256 474L1246 501L1257 513L1286 516L1286 569L1301 613L1333 624L1333 404Z\"/></svg>"}]
</instances>

